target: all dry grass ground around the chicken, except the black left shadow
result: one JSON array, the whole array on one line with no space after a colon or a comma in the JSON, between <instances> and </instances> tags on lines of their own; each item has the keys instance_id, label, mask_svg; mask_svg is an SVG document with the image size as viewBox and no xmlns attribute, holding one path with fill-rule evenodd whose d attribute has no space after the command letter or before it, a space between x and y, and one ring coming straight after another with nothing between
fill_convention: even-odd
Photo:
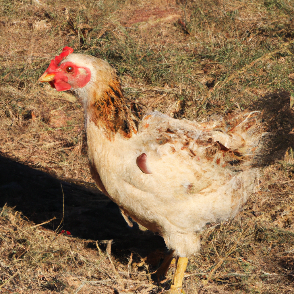
<instances>
[{"instance_id":1,"label":"all dry grass ground around the chicken, except the black left shadow","mask_svg":"<svg viewBox=\"0 0 294 294\"><path fill-rule=\"evenodd\" d=\"M196 119L236 104L258 108L276 133L290 137L293 1L0 2L0 151L10 158L92 182L81 106L70 93L37 83L65 45L108 61L126 96L146 109ZM272 102L263 97L281 90L286 102L268 115ZM293 173L289 150L261 170L256 193L234 220L208 225L188 264L186 293L294 293ZM155 268L135 253L129 262L111 256L114 269L95 242L30 228L7 207L0 225L4 293L162 290L151 280Z\"/></svg>"}]
</instances>

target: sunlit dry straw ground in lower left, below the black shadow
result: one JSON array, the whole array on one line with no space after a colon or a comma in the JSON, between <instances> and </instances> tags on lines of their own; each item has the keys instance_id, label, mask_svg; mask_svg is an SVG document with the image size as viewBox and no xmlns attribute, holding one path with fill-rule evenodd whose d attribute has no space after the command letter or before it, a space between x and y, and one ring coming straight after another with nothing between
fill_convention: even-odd
<instances>
[{"instance_id":1,"label":"sunlit dry straw ground in lower left, below the black shadow","mask_svg":"<svg viewBox=\"0 0 294 294\"><path fill-rule=\"evenodd\" d=\"M1 293L148 293L155 287L144 260L131 256L122 264L98 243L46 230L7 206L0 213L0 265Z\"/></svg>"}]
</instances>

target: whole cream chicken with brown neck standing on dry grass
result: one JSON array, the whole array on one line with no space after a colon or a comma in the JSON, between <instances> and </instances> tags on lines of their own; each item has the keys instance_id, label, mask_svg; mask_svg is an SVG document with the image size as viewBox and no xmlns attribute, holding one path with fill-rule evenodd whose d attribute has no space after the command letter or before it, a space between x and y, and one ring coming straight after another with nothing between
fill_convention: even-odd
<instances>
[{"instance_id":1,"label":"whole cream chicken with brown neck standing on dry grass","mask_svg":"<svg viewBox=\"0 0 294 294\"><path fill-rule=\"evenodd\" d=\"M235 216L253 189L259 113L196 122L154 111L140 120L115 70L72 52L65 47L39 81L76 93L93 179L125 215L160 234L179 256L171 293L180 293L187 257L200 247L197 233Z\"/></svg>"}]
</instances>

